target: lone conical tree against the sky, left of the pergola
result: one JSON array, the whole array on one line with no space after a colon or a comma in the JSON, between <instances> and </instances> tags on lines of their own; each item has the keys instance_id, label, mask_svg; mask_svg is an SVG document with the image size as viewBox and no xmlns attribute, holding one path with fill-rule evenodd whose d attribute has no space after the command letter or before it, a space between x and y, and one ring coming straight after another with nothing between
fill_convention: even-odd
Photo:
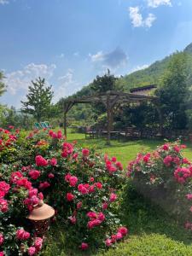
<instances>
[{"instance_id":1,"label":"lone conical tree against the sky, left of the pergola","mask_svg":"<svg viewBox=\"0 0 192 256\"><path fill-rule=\"evenodd\" d=\"M52 86L46 86L45 79L38 78L32 81L32 85L28 88L26 102L22 102L21 111L23 113L32 114L38 122L49 116L49 108L51 108L51 100L53 98Z\"/></svg>"}]
</instances>

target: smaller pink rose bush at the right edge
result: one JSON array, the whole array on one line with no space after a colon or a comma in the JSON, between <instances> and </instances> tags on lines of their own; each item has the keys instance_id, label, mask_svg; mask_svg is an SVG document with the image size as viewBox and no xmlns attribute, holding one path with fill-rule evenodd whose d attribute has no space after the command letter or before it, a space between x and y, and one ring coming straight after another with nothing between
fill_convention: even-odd
<instances>
[{"instance_id":1,"label":"smaller pink rose bush at the right edge","mask_svg":"<svg viewBox=\"0 0 192 256\"><path fill-rule=\"evenodd\" d=\"M179 221L191 219L192 164L183 157L178 141L148 154L137 154L127 166L137 190ZM192 227L192 225L191 225Z\"/></svg>"}]
</instances>

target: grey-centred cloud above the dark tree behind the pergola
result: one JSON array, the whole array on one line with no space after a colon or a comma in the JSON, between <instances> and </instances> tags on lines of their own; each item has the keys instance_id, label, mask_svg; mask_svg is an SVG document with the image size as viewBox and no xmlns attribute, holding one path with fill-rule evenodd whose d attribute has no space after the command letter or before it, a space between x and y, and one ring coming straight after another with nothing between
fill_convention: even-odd
<instances>
[{"instance_id":1,"label":"grey-centred cloud above the dark tree behind the pergola","mask_svg":"<svg viewBox=\"0 0 192 256\"><path fill-rule=\"evenodd\" d=\"M112 69L124 66L128 61L127 55L120 48L116 48L109 53L98 51L96 55L89 54L89 56L93 63L98 63L100 66L102 65L102 67L108 67Z\"/></svg>"}]
</instances>

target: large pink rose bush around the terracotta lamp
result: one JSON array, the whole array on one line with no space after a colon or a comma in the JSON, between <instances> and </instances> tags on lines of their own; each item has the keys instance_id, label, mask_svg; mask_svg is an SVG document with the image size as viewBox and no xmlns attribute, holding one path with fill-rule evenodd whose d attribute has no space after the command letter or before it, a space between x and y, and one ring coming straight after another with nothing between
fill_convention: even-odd
<instances>
[{"instance_id":1,"label":"large pink rose bush around the terracotta lamp","mask_svg":"<svg viewBox=\"0 0 192 256\"><path fill-rule=\"evenodd\" d=\"M26 216L46 201L81 250L112 247L127 235L115 214L125 181L115 157L67 143L61 131L0 129L0 255L38 254L38 237Z\"/></svg>"}]
</instances>

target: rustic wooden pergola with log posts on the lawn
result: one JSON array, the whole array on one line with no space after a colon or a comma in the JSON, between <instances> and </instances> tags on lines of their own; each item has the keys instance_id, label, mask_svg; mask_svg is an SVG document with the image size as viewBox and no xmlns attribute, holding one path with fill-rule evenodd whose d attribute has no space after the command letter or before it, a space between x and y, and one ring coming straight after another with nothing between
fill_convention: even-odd
<instances>
[{"instance_id":1,"label":"rustic wooden pergola with log posts on the lawn","mask_svg":"<svg viewBox=\"0 0 192 256\"><path fill-rule=\"evenodd\" d=\"M94 94L91 96L82 96L82 97L73 97L67 99L67 101L64 102L64 133L65 136L67 136L67 113L68 111L73 108L73 106L77 103L99 103L102 102L103 105L107 109L107 115L108 115L108 141L107 143L110 144L110 138L111 138L111 131L113 131L113 109L114 107L118 105L122 105L125 103L137 103L137 102L154 102L154 105L156 106L158 113L160 115L160 134L162 131L162 118L160 113L160 108L158 108L158 98L154 96L146 96L146 95L139 95L135 93L127 93L122 91L114 91L114 90L108 90L107 92L103 92L100 94Z\"/></svg>"}]
</instances>

